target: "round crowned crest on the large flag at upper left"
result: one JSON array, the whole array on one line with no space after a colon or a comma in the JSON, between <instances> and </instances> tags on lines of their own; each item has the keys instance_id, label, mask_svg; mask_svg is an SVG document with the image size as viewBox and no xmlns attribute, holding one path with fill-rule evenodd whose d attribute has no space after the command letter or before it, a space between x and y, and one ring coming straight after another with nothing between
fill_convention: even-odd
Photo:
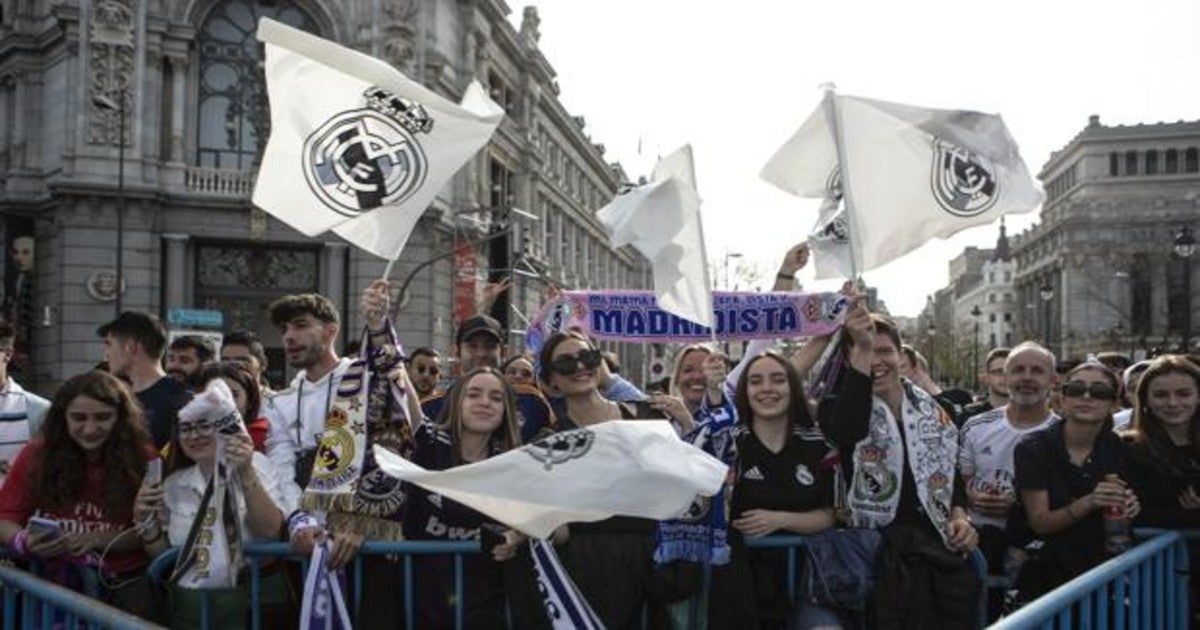
<instances>
[{"instance_id":1,"label":"round crowned crest on the large flag at upper left","mask_svg":"<svg viewBox=\"0 0 1200 630\"><path fill-rule=\"evenodd\" d=\"M362 96L365 108L326 120L305 139L301 154L313 194L347 217L402 203L428 173L416 139L433 128L425 107L378 86Z\"/></svg>"}]
</instances>

